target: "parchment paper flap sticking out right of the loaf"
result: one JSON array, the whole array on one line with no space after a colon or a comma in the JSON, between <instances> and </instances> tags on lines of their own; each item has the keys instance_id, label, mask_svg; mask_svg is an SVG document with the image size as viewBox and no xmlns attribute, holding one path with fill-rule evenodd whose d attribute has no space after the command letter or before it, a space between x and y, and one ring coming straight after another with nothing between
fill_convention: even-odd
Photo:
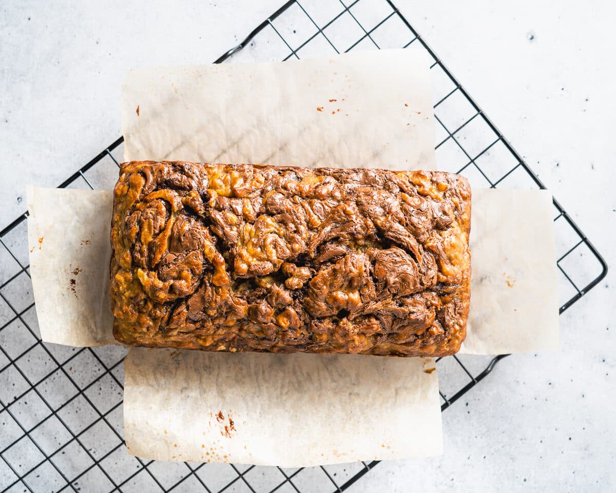
<instances>
[{"instance_id":1,"label":"parchment paper flap sticking out right of the loaf","mask_svg":"<svg viewBox=\"0 0 616 493\"><path fill-rule=\"evenodd\" d=\"M460 352L558 349L552 195L473 189L471 311Z\"/></svg>"}]
</instances>

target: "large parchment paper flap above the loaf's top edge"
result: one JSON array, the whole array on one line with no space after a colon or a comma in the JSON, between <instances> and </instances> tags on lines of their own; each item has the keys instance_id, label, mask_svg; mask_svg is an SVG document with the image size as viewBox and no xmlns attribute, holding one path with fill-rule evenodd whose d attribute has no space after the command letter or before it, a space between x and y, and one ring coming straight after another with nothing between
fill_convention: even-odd
<instances>
[{"instance_id":1,"label":"large parchment paper flap above the loaf's top edge","mask_svg":"<svg viewBox=\"0 0 616 493\"><path fill-rule=\"evenodd\" d=\"M435 169L429 63L404 49L133 69L124 159Z\"/></svg>"}]
</instances>

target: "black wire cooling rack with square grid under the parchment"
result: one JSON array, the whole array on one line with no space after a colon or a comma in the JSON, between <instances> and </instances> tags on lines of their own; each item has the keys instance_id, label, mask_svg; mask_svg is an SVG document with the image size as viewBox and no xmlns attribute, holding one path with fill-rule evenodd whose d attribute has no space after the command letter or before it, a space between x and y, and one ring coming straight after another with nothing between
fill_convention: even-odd
<instances>
[{"instance_id":1,"label":"black wire cooling rack with square grid under the parchment","mask_svg":"<svg viewBox=\"0 0 616 493\"><path fill-rule=\"evenodd\" d=\"M286 60L362 49L424 49L431 67L437 162L472 186L544 188L520 155L388 0L291 0L216 63ZM110 189L123 139L60 187ZM124 447L123 359L117 346L43 344L30 271L26 214L0 232L0 490L340 492L378 462L312 468L168 463L131 457ZM607 272L604 260L554 200L561 313ZM437 361L442 410L506 355Z\"/></svg>"}]
</instances>

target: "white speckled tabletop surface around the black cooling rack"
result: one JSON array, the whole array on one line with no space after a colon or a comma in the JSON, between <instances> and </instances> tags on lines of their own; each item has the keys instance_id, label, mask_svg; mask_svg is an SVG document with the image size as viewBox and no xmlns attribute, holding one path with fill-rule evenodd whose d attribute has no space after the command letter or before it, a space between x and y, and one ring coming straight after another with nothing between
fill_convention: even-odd
<instances>
[{"instance_id":1,"label":"white speckled tabletop surface around the black cooling rack","mask_svg":"<svg viewBox=\"0 0 616 493\"><path fill-rule=\"evenodd\" d=\"M25 210L26 184L59 184L119 136L128 67L216 59L282 1L252 3L191 0L182 10L142 0L132 7L0 4L0 227ZM596 0L397 4L611 266L614 7ZM561 351L505 359L445 411L443 457L383 463L351 491L610 491L613 283L610 272L561 316ZM115 396L100 386L97 395ZM104 443L101 435L91 446ZM134 467L115 455L108 460ZM304 491L316 487L310 481L307 475Z\"/></svg>"}]
</instances>

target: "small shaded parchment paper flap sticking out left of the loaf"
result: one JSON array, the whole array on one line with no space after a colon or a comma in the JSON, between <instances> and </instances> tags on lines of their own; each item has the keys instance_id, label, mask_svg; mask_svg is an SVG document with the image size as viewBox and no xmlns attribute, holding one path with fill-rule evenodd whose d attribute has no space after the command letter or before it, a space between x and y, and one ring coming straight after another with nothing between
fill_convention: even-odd
<instances>
[{"instance_id":1,"label":"small shaded parchment paper flap sticking out left of the loaf","mask_svg":"<svg viewBox=\"0 0 616 493\"><path fill-rule=\"evenodd\" d=\"M27 190L28 248L41 338L68 346L115 343L109 296L108 190Z\"/></svg>"}]
</instances>

